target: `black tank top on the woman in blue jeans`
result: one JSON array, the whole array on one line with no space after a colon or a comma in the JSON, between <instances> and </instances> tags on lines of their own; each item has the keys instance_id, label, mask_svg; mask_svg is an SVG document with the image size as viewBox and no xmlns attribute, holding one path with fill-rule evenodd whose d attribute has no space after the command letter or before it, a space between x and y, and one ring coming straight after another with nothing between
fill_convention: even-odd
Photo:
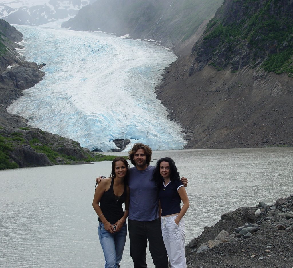
<instances>
[{"instance_id":1,"label":"black tank top on the woman in blue jeans","mask_svg":"<svg viewBox=\"0 0 293 268\"><path fill-rule=\"evenodd\" d=\"M126 200L126 184L124 184L124 191L121 196L116 196L114 194L114 179L112 178L111 186L108 191L104 192L101 200L100 200L100 208L104 217L107 219L108 222L111 224L120 220L123 215L124 211L122 208L122 204ZM99 222L102 222L99 218Z\"/></svg>"}]
</instances>

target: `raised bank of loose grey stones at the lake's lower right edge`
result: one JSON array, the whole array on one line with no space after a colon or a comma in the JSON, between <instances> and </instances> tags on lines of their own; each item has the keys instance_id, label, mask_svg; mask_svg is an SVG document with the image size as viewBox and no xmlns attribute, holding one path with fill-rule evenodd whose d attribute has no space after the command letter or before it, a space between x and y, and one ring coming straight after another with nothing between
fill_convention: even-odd
<instances>
[{"instance_id":1,"label":"raised bank of loose grey stones at the lake's lower right edge","mask_svg":"<svg viewBox=\"0 0 293 268\"><path fill-rule=\"evenodd\" d=\"M212 248L215 246L215 243L212 243L214 239L219 243L234 242L235 239L231 239L232 237L241 241L247 238L245 235L248 233L253 234L264 228L293 230L293 194L276 200L273 205L263 204L260 202L255 207L240 207L222 215L219 222L212 227L205 227L199 237L190 241L187 246L188 251L197 252L196 249L209 244L212 246L208 248ZM258 211L260 213L256 213Z\"/></svg>"}]
</instances>

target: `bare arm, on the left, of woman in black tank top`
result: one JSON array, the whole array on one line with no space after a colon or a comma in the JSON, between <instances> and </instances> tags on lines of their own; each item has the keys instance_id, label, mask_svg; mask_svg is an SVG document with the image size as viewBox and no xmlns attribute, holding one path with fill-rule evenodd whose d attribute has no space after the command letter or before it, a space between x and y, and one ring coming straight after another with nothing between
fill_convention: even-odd
<instances>
[{"instance_id":1,"label":"bare arm, on the left, of woman in black tank top","mask_svg":"<svg viewBox=\"0 0 293 268\"><path fill-rule=\"evenodd\" d=\"M100 182L100 186L97 187L96 191L95 191L95 195L93 197L93 209L96 211L97 215L99 216L100 220L103 222L105 230L107 230L110 233L114 233L114 229L113 226L110 224L110 222L107 221L107 219L105 218L105 216L103 215L103 212L100 208L100 200L104 194L104 192L106 190L108 190L108 188L111 185L111 180L109 180L109 178L103 180L102 182Z\"/></svg>"}]
</instances>

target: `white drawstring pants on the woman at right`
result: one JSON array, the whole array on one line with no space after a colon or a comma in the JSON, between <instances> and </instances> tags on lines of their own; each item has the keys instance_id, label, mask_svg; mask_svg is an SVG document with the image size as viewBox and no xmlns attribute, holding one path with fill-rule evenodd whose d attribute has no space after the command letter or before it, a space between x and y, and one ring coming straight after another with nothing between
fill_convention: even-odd
<instances>
[{"instance_id":1,"label":"white drawstring pants on the woman at right","mask_svg":"<svg viewBox=\"0 0 293 268\"><path fill-rule=\"evenodd\" d=\"M177 215L161 217L162 236L172 268L186 268L185 258L185 220L179 226L175 223Z\"/></svg>"}]
</instances>

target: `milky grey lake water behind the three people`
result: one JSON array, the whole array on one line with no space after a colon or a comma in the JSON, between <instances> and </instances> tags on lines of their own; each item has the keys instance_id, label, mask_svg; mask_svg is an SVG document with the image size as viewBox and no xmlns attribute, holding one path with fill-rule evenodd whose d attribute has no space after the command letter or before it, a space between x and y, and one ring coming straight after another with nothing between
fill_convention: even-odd
<instances>
[{"instance_id":1,"label":"milky grey lake water behind the three people","mask_svg":"<svg viewBox=\"0 0 293 268\"><path fill-rule=\"evenodd\" d=\"M153 159L163 156L171 156L188 178L186 243L223 213L293 193L293 148L153 153ZM110 175L110 165L0 171L0 267L103 267L91 203L94 179ZM132 267L128 253L127 240L121 267ZM154 267L147 257L148 267Z\"/></svg>"}]
</instances>

